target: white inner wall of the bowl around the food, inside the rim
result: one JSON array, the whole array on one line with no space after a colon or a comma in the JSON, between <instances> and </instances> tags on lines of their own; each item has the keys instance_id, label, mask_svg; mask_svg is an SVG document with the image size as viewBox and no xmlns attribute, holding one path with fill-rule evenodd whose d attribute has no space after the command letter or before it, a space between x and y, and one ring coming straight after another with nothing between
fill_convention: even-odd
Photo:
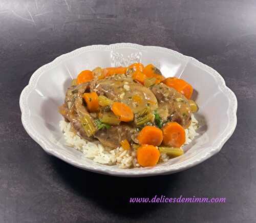
<instances>
[{"instance_id":1,"label":"white inner wall of the bowl around the food, inside the rim","mask_svg":"<svg viewBox=\"0 0 256 223\"><path fill-rule=\"evenodd\" d=\"M153 49L90 50L76 54L50 70L42 72L35 89L28 97L29 119L33 129L44 138L49 147L67 155L69 159L81 164L100 165L84 158L81 152L65 146L62 132L59 130L59 121L62 117L58 113L58 106L63 103L71 79L80 71L93 70L96 66L127 66L136 61L155 64L165 77L176 76L186 80L194 87L193 99L199 105L196 118L201 126L198 129L200 135L184 147L186 151L184 155L169 160L161 166L181 163L214 146L216 139L222 135L229 123L227 114L229 99L220 90L216 79L207 70L195 65L190 57Z\"/></svg>"}]
</instances>

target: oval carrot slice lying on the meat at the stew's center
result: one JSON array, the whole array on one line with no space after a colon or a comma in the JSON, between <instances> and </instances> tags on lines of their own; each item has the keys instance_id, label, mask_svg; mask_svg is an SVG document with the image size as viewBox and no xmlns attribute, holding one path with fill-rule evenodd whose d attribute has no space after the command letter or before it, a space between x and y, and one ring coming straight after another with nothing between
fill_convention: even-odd
<instances>
[{"instance_id":1,"label":"oval carrot slice lying on the meat at the stew's center","mask_svg":"<svg viewBox=\"0 0 256 223\"><path fill-rule=\"evenodd\" d=\"M134 118L132 109L124 103L114 102L111 110L123 122L130 122Z\"/></svg>"}]
</instances>

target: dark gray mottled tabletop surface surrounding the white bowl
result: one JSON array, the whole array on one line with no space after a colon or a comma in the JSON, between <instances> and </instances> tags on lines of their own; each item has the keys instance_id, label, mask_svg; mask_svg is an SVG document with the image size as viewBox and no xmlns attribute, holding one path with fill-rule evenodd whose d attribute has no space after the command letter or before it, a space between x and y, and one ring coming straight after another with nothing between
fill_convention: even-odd
<instances>
[{"instance_id":1,"label":"dark gray mottled tabletop surface surrounding the white bowl","mask_svg":"<svg viewBox=\"0 0 256 223\"><path fill-rule=\"evenodd\" d=\"M256 222L255 1L0 1L0 222ZM177 50L221 73L238 125L220 153L181 173L122 179L47 155L20 122L39 66L91 44ZM220 120L221 121L221 120ZM225 204L129 204L130 196L226 197Z\"/></svg>"}]
</instances>

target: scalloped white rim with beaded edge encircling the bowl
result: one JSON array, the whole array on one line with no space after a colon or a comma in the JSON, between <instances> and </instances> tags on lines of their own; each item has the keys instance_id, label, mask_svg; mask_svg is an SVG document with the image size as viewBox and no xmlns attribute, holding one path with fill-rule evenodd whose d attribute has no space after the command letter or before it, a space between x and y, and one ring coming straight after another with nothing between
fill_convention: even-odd
<instances>
[{"instance_id":1,"label":"scalloped white rim with beaded edge encircling the bowl","mask_svg":"<svg viewBox=\"0 0 256 223\"><path fill-rule=\"evenodd\" d=\"M221 137L218 138L216 141L216 144L211 147L207 147L208 151L201 151L197 154L196 157L190 158L189 160L182 161L181 163L178 164L172 164L170 166L165 166L165 167L154 167L154 168L139 168L138 171L129 171L129 169L109 169L109 168L104 168L102 165L98 165L97 167L92 167L87 164L81 164L79 162L76 162L72 159L69 159L65 157L62 153L57 152L54 148L49 147L47 145L47 142L42 140L40 138L40 135L33 129L33 127L29 123L29 114L30 110L27 105L27 99L29 94L34 90L36 87L36 83L40 74L48 69L53 68L60 62L63 62L64 60L78 55L84 51L89 51L93 49L97 50L114 50L114 49L119 49L119 48L135 48L137 50L146 50L146 49L154 49L154 50L159 50L159 51L165 51L169 54L174 54L176 57L180 58L188 58L189 61L197 66L199 66L201 69L207 70L218 82L221 91L227 96L227 98L230 101L229 107L228 107L228 115L230 117L230 120L228 123L228 126L226 127L225 131L222 133ZM212 155L218 153L222 146L225 144L225 142L231 137L234 129L236 128L237 125L237 98L236 95L226 86L225 81L223 77L214 69L210 68L210 66L201 63L197 59L189 56L185 56L177 51L170 50L164 47L157 47L157 46L142 46L139 44L135 43L115 43L115 44L110 44L110 45L91 45L91 46L86 46L86 47L81 47L78 48L72 52L62 54L55 58L52 62L47 63L45 65L42 65L39 69L37 69L33 75L31 76L29 80L29 84L23 89L22 93L20 94L19 98L19 106L20 110L22 111L22 124L29 134L29 136L36 141L48 154L54 155L55 157L59 158L60 160L63 160L75 167L85 169L88 171L92 172L97 172L97 173L102 173L102 174L109 174L109 175L116 175L116 176L128 176L128 177L136 177L136 176L150 176L150 175L164 175L164 174L170 174L170 173L175 173L175 172L180 172L182 170L188 169L190 167L193 167L199 163L202 163L203 161L207 160L210 158ZM204 153L204 154L202 154Z\"/></svg>"}]
</instances>

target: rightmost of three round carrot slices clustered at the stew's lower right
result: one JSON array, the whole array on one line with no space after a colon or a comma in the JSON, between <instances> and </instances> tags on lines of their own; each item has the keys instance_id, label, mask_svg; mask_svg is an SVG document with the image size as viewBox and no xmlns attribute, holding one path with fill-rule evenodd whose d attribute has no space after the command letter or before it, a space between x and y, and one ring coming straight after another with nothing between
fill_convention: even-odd
<instances>
[{"instance_id":1,"label":"rightmost of three round carrot slices clustered at the stew's lower right","mask_svg":"<svg viewBox=\"0 0 256 223\"><path fill-rule=\"evenodd\" d=\"M181 147L185 143L185 130L177 122L169 122L163 127L163 144Z\"/></svg>"}]
</instances>

